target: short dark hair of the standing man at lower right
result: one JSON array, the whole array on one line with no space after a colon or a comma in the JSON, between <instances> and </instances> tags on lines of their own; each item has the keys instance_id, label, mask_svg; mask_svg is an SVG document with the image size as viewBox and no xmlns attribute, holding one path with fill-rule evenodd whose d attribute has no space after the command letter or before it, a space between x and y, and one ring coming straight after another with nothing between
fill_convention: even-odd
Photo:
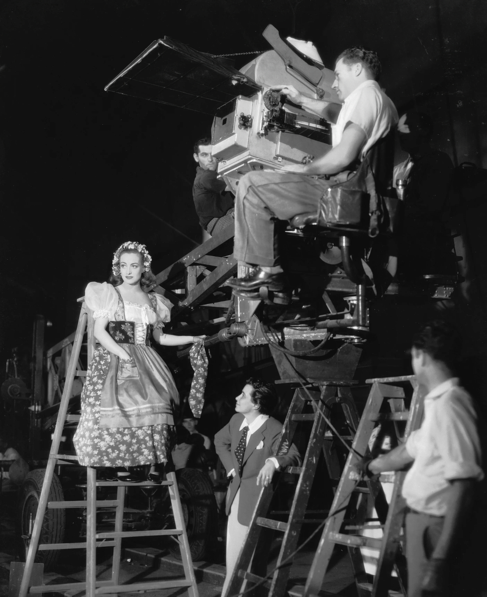
<instances>
[{"instance_id":1,"label":"short dark hair of the standing man at lower right","mask_svg":"<svg viewBox=\"0 0 487 597\"><path fill-rule=\"evenodd\" d=\"M412 338L412 346L423 350L435 361L450 369L457 367L461 352L461 336L457 328L441 319L430 321Z\"/></svg>"}]
</instances>

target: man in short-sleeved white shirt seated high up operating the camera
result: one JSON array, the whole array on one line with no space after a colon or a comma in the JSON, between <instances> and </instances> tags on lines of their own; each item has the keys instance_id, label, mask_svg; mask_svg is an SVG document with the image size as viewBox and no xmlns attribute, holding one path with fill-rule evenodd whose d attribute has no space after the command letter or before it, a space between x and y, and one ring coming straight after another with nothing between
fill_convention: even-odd
<instances>
[{"instance_id":1,"label":"man in short-sleeved white shirt seated high up operating the camera","mask_svg":"<svg viewBox=\"0 0 487 597\"><path fill-rule=\"evenodd\" d=\"M377 83L380 71L375 52L363 48L342 52L335 64L332 85L339 99L344 100L342 106L307 97L291 85L272 88L334 123L332 149L311 164L254 171L242 177L235 199L233 255L259 267L245 278L230 280L230 286L244 291L261 286L283 290L285 276L279 263L274 220L318 211L320 198L330 186L323 175L346 180L346 171L356 170L368 150L397 123L397 110Z\"/></svg>"}]
</instances>

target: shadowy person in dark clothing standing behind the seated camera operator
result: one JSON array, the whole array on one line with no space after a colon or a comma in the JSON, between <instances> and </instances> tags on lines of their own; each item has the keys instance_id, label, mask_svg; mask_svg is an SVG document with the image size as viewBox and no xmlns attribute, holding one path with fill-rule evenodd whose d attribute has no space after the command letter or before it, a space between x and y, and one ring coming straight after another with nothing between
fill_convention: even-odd
<instances>
[{"instance_id":1,"label":"shadowy person in dark clothing standing behind the seated camera operator","mask_svg":"<svg viewBox=\"0 0 487 597\"><path fill-rule=\"evenodd\" d=\"M399 143L409 158L394 168L397 179L407 180L404 190L403 235L399 267L405 275L454 273L451 239L445 227L453 164L447 153L433 149L433 121L421 112L403 114L397 124Z\"/></svg>"}]
</instances>

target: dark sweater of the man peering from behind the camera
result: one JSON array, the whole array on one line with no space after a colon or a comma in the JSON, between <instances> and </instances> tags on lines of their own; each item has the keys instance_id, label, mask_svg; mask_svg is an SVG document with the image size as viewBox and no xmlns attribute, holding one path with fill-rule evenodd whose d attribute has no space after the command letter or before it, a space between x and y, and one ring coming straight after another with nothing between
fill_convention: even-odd
<instances>
[{"instance_id":1,"label":"dark sweater of the man peering from behind the camera","mask_svg":"<svg viewBox=\"0 0 487 597\"><path fill-rule=\"evenodd\" d=\"M226 182L217 179L217 173L212 170L196 168L196 178L193 183L193 201L199 223L206 230L208 222L213 218L221 218L233 207L232 193L225 191Z\"/></svg>"}]
</instances>

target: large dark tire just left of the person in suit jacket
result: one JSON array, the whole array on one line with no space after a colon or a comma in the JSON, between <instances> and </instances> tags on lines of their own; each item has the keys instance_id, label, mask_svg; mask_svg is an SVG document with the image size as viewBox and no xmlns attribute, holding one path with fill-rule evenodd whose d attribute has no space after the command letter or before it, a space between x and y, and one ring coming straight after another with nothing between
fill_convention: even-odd
<instances>
[{"instance_id":1,"label":"large dark tire just left of the person in suit jacket","mask_svg":"<svg viewBox=\"0 0 487 597\"><path fill-rule=\"evenodd\" d=\"M208 475L198 469L176 471L184 522L193 562L204 560L218 533L218 508ZM181 559L179 547L171 541L169 551Z\"/></svg>"}]
</instances>

